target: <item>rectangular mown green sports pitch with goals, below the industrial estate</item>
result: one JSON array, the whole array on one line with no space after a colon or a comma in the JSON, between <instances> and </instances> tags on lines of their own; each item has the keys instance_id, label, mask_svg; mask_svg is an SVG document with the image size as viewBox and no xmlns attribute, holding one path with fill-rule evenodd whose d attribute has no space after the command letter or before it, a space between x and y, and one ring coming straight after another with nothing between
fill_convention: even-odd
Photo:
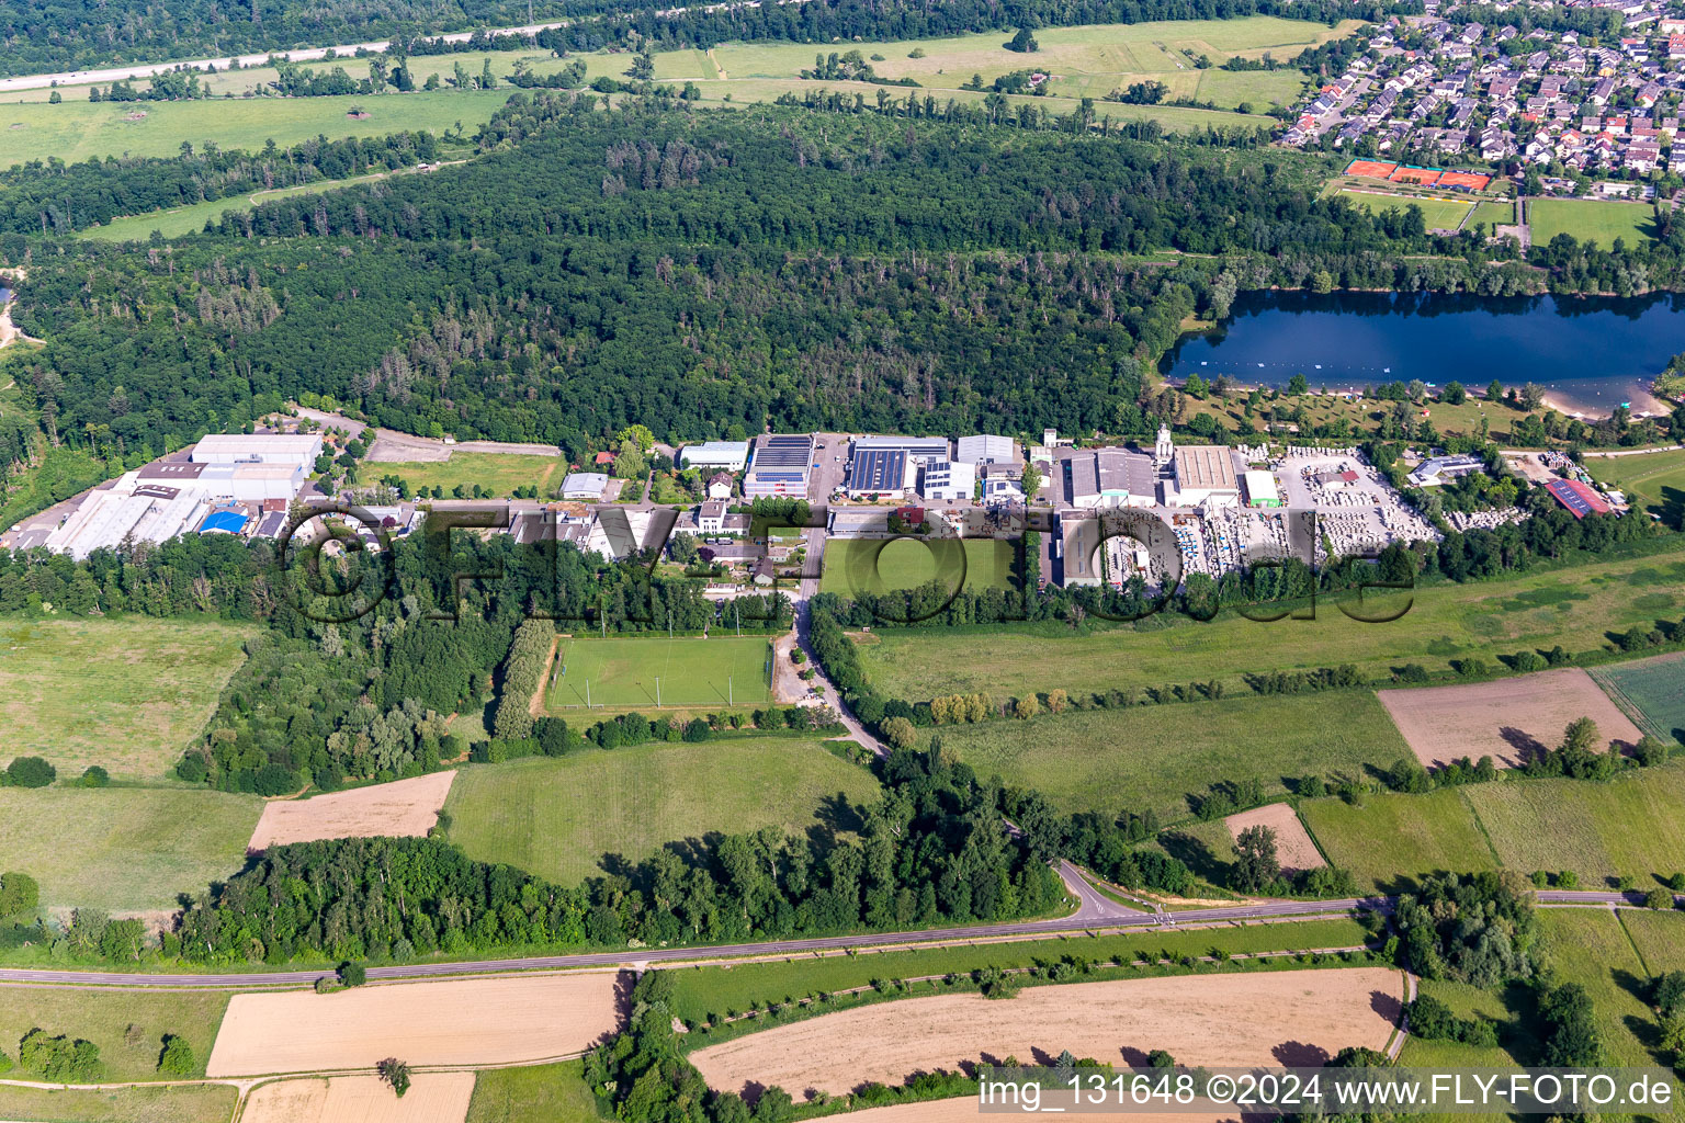
<instances>
[{"instance_id":1,"label":"rectangular mown green sports pitch with goals, below the industrial estate","mask_svg":"<svg viewBox=\"0 0 1685 1123\"><path fill-rule=\"evenodd\" d=\"M770 652L765 636L564 638L544 700L564 717L586 704L593 711L765 705Z\"/></svg>"}]
</instances>

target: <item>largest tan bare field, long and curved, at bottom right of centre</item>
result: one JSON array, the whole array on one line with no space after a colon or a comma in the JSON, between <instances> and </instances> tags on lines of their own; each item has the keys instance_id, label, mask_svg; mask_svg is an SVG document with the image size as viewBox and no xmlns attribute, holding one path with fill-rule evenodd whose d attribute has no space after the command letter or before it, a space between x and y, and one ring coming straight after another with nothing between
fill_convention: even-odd
<instances>
[{"instance_id":1,"label":"largest tan bare field, long and curved, at bottom right of centre","mask_svg":"<svg viewBox=\"0 0 1685 1123\"><path fill-rule=\"evenodd\" d=\"M1153 1049L1183 1064L1321 1064L1346 1046L1385 1047L1402 995L1399 971L1368 966L903 998L698 1049L691 1062L721 1091L778 1084L797 1101L989 1057L1051 1064L1063 1049L1114 1064L1144 1064Z\"/></svg>"}]
</instances>

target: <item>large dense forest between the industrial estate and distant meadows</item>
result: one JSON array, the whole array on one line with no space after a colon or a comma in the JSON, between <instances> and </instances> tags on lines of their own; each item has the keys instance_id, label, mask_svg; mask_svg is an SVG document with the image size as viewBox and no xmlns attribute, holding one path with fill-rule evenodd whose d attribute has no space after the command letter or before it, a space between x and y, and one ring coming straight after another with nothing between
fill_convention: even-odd
<instances>
[{"instance_id":1,"label":"large dense forest between the industrial estate and distant meadows","mask_svg":"<svg viewBox=\"0 0 1685 1123\"><path fill-rule=\"evenodd\" d=\"M275 200L145 253L0 236L30 269L15 317L49 340L19 370L25 406L118 451L302 392L570 453L632 423L661 439L1115 431L1222 273L1538 285L1473 251L1424 258L1417 212L1318 199L1321 162L1291 153L991 128L917 101L593 104L522 93L470 165ZM1161 251L1185 256L1131 256Z\"/></svg>"}]
</instances>

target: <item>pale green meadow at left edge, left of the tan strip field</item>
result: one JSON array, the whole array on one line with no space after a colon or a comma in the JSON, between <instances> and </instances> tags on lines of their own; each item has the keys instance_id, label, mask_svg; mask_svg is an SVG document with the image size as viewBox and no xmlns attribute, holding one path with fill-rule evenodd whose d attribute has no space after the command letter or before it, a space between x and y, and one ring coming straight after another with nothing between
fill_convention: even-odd
<instances>
[{"instance_id":1,"label":"pale green meadow at left edge, left of the tan strip field","mask_svg":"<svg viewBox=\"0 0 1685 1123\"><path fill-rule=\"evenodd\" d=\"M0 869L40 882L44 906L174 909L239 870L259 813L199 788L3 788Z\"/></svg>"}]
</instances>

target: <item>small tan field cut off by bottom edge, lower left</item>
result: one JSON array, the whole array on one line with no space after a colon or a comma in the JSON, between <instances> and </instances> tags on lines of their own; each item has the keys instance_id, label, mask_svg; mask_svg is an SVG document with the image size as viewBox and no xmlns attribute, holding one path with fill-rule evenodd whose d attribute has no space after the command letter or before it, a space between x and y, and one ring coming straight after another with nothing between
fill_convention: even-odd
<instances>
[{"instance_id":1,"label":"small tan field cut off by bottom edge, lower left","mask_svg":"<svg viewBox=\"0 0 1685 1123\"><path fill-rule=\"evenodd\" d=\"M278 1081L251 1093L239 1123L462 1123L473 1072L416 1072L399 1099L379 1076Z\"/></svg>"}]
</instances>

